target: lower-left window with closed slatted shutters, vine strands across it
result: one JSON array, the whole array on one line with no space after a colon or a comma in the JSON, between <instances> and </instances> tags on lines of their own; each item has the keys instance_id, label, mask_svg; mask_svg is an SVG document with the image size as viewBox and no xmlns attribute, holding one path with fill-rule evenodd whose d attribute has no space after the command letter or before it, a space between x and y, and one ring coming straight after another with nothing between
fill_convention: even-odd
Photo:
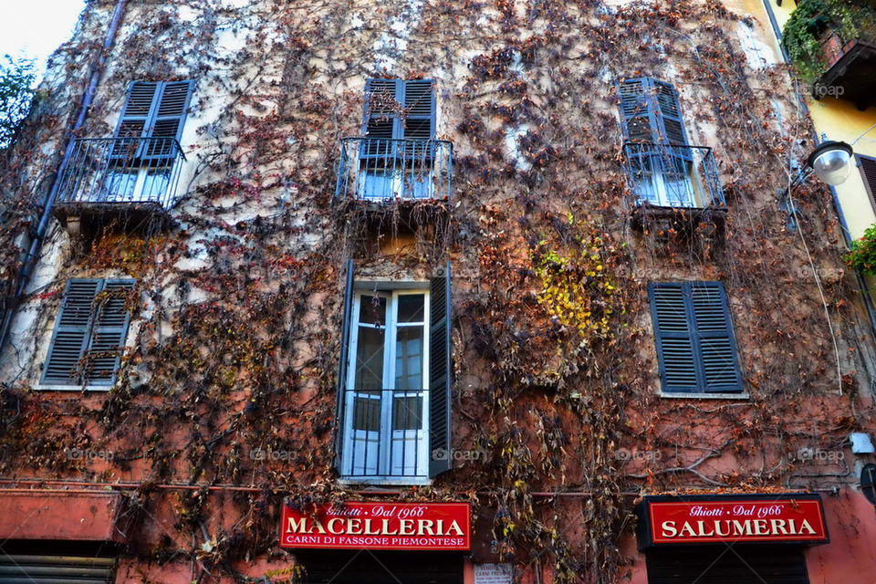
<instances>
[{"instance_id":1,"label":"lower-left window with closed slatted shutters, vine strands across it","mask_svg":"<svg viewBox=\"0 0 876 584\"><path fill-rule=\"evenodd\" d=\"M68 280L42 382L110 386L128 335L126 300L133 280Z\"/></svg>"}]
</instances>

